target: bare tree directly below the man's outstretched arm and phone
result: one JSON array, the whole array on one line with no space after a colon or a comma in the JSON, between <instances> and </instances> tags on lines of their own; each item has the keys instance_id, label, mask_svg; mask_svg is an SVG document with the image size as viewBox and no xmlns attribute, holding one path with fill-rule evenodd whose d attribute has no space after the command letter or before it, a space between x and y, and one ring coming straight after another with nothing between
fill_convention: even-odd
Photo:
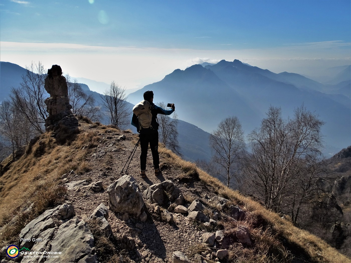
<instances>
[{"instance_id":1,"label":"bare tree directly below the man's outstretched arm and phone","mask_svg":"<svg viewBox=\"0 0 351 263\"><path fill-rule=\"evenodd\" d=\"M162 102L157 103L161 108L166 108L166 104ZM165 144L165 146L172 150L173 153L181 156L180 146L178 143L178 115L176 112L173 113L173 118L168 115L158 114L159 127L159 141Z\"/></svg>"}]
</instances>

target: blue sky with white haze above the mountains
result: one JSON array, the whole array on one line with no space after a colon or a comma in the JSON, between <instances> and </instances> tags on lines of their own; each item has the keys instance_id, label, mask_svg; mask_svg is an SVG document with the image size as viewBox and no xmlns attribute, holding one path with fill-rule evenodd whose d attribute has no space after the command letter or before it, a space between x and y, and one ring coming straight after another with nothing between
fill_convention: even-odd
<instances>
[{"instance_id":1,"label":"blue sky with white haze above the mountains","mask_svg":"<svg viewBox=\"0 0 351 263\"><path fill-rule=\"evenodd\" d=\"M1 61L126 88L221 59L317 76L351 63L351 1L0 0L0 41Z\"/></svg>"}]
</instances>

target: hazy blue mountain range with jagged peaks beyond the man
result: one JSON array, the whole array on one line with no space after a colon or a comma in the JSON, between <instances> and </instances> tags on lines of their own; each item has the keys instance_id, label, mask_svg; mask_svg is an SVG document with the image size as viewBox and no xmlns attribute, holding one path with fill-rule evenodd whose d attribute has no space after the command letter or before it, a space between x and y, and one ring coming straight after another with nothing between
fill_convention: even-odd
<instances>
[{"instance_id":1,"label":"hazy blue mountain range with jagged peaks beyond the man","mask_svg":"<svg viewBox=\"0 0 351 263\"><path fill-rule=\"evenodd\" d=\"M336 85L323 85L299 74L276 74L239 60L221 60L215 65L176 69L163 80L130 94L128 99L137 103L146 90L153 90L155 102L175 103L180 119L205 131L211 132L220 120L235 115L246 133L259 127L270 105L281 107L287 117L304 103L326 122L322 133L328 151L335 152L351 144L351 101L350 96L341 93L347 92L351 76L346 82L344 77L340 74Z\"/></svg>"}]
</instances>

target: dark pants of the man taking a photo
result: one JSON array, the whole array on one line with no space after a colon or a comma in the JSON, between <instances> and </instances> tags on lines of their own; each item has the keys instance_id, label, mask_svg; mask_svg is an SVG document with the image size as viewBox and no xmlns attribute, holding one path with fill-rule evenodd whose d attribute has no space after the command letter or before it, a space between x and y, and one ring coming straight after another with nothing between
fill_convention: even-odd
<instances>
[{"instance_id":1,"label":"dark pants of the man taking a photo","mask_svg":"<svg viewBox=\"0 0 351 263\"><path fill-rule=\"evenodd\" d=\"M146 170L147 148L150 143L152 159L155 169L160 168L160 158L158 155L158 132L152 134L140 134L140 170Z\"/></svg>"}]
</instances>

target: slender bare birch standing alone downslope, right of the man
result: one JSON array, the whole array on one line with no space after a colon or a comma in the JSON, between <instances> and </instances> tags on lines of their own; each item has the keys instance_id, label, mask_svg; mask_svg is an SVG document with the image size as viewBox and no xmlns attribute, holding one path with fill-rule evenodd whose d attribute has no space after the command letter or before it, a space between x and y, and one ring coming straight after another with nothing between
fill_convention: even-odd
<instances>
[{"instance_id":1,"label":"slender bare birch standing alone downslope, right of the man","mask_svg":"<svg viewBox=\"0 0 351 263\"><path fill-rule=\"evenodd\" d=\"M244 132L238 117L231 116L222 120L210 135L210 144L213 161L220 170L224 170L220 175L225 178L229 187L232 178L237 177L242 169L240 158L245 149ZM239 183L237 184L239 187Z\"/></svg>"}]
</instances>

